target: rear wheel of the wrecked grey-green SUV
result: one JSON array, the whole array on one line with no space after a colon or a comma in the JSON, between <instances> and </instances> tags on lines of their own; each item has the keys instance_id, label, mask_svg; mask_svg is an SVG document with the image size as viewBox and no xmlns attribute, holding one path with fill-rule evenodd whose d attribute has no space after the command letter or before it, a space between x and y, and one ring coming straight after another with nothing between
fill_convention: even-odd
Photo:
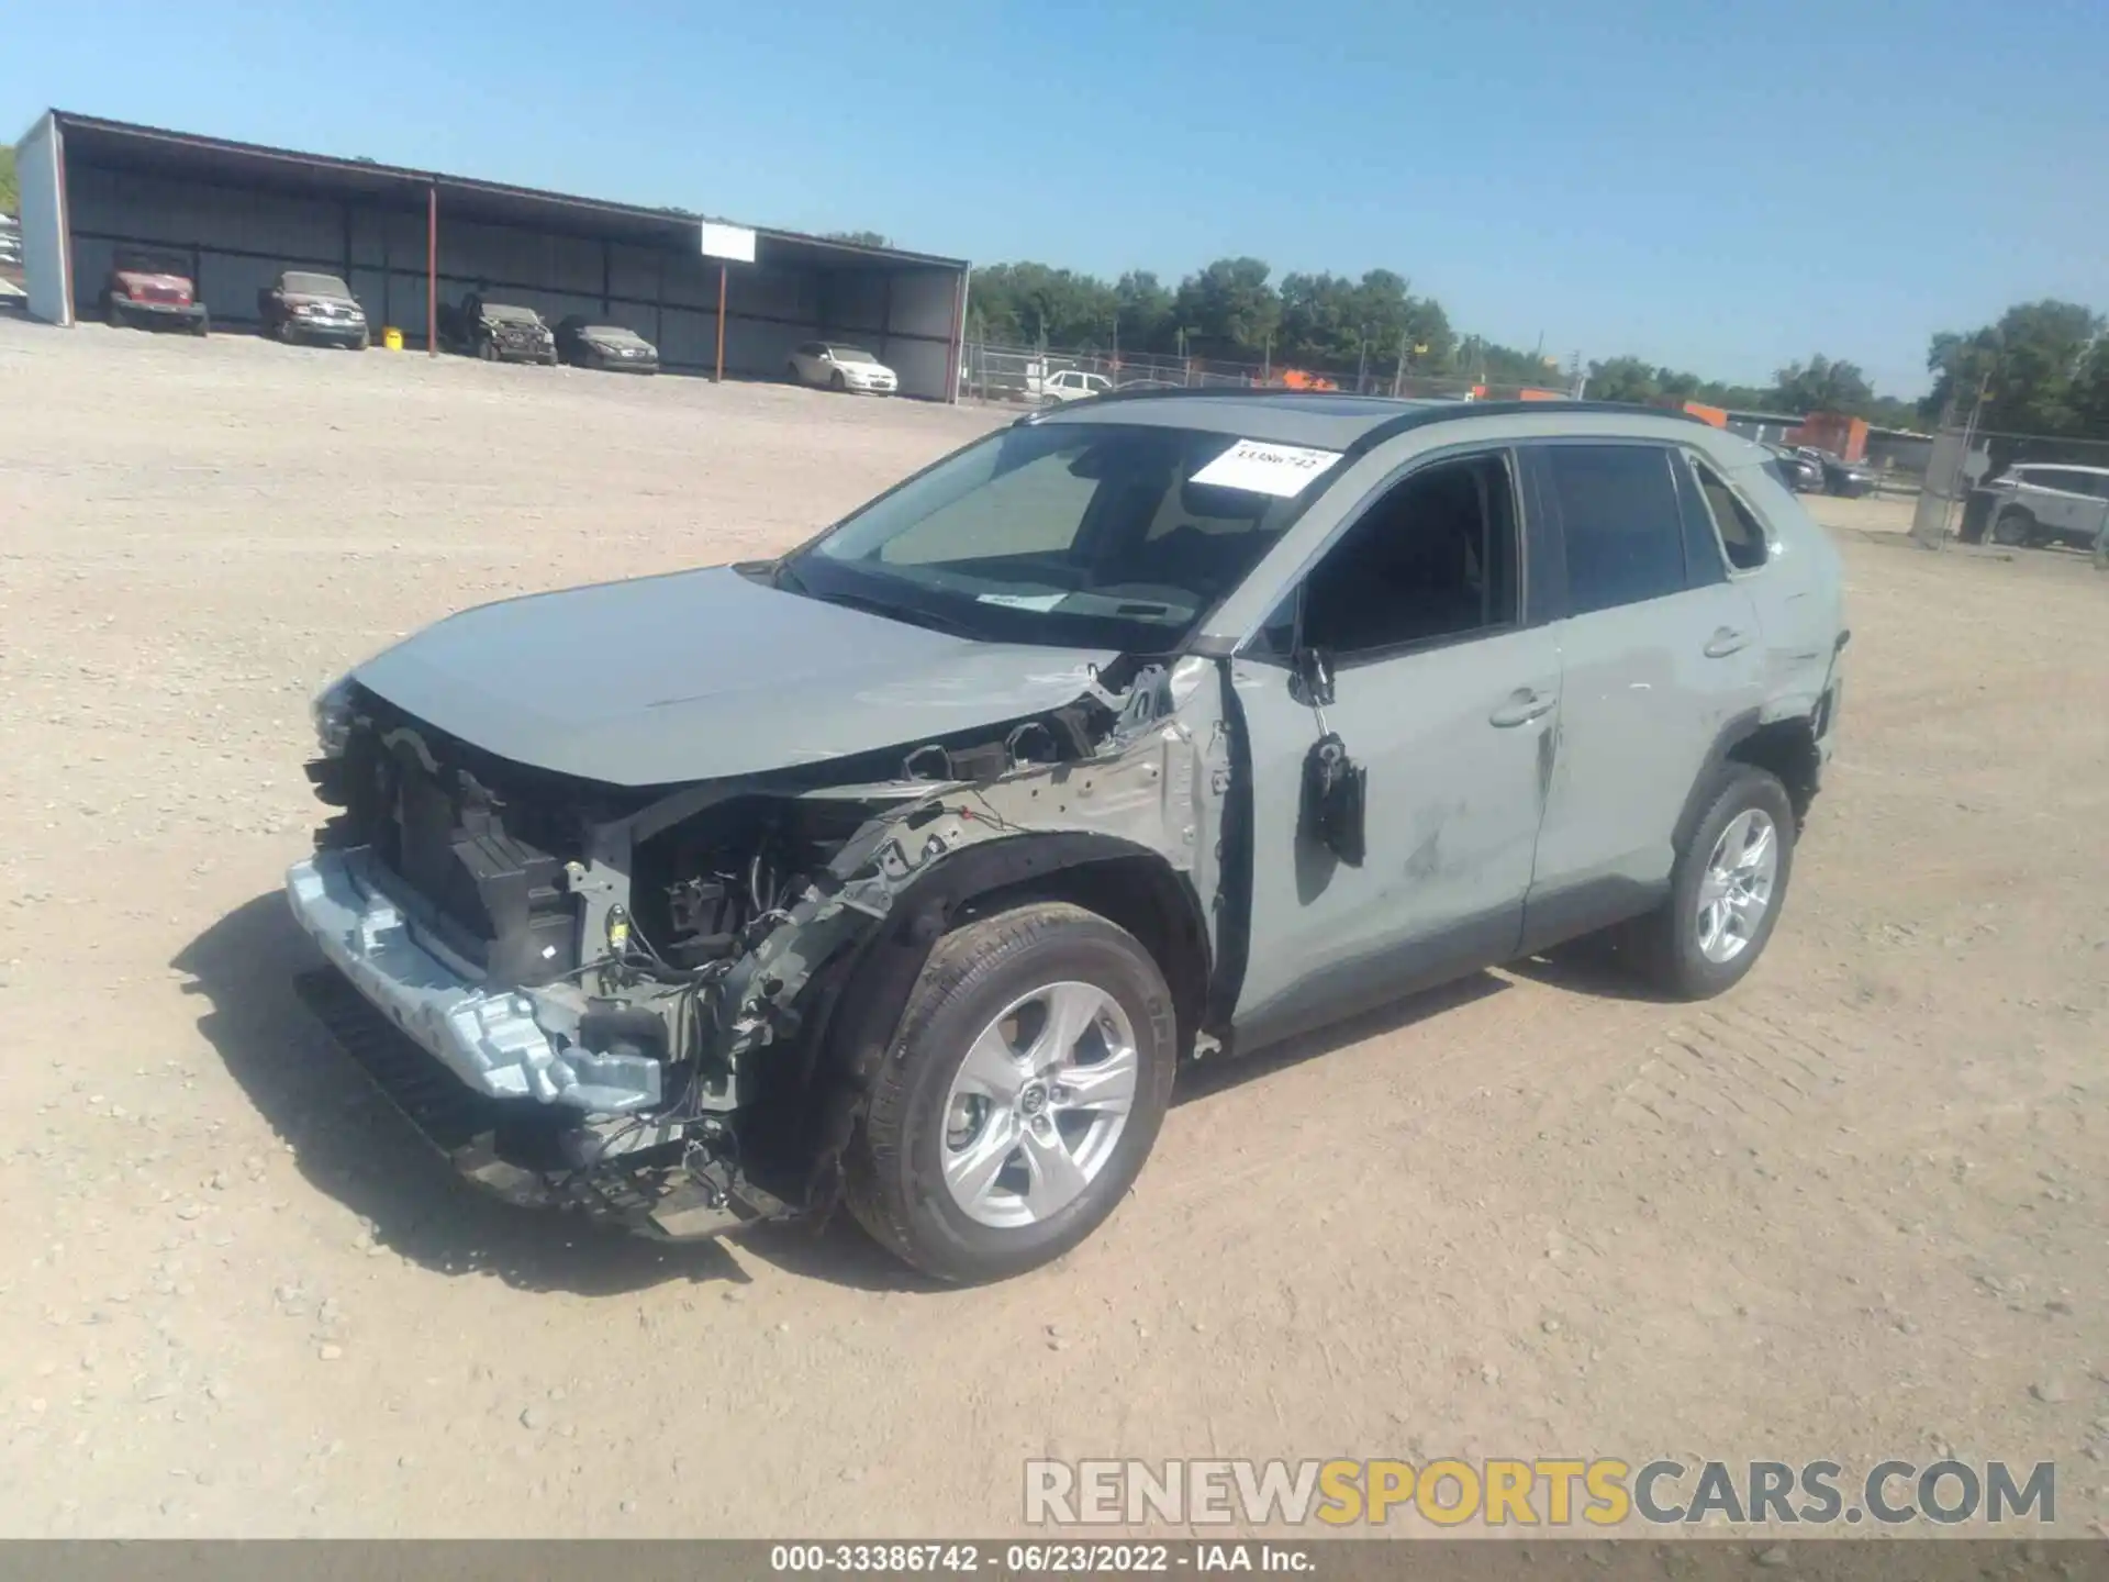
<instances>
[{"instance_id":1,"label":"rear wheel of the wrecked grey-green SUV","mask_svg":"<svg viewBox=\"0 0 2109 1582\"><path fill-rule=\"evenodd\" d=\"M1675 1000L1706 1000L1757 966L1795 867L1795 804L1776 774L1723 766L1677 852L1670 899L1628 939L1645 977Z\"/></svg>"}]
</instances>

